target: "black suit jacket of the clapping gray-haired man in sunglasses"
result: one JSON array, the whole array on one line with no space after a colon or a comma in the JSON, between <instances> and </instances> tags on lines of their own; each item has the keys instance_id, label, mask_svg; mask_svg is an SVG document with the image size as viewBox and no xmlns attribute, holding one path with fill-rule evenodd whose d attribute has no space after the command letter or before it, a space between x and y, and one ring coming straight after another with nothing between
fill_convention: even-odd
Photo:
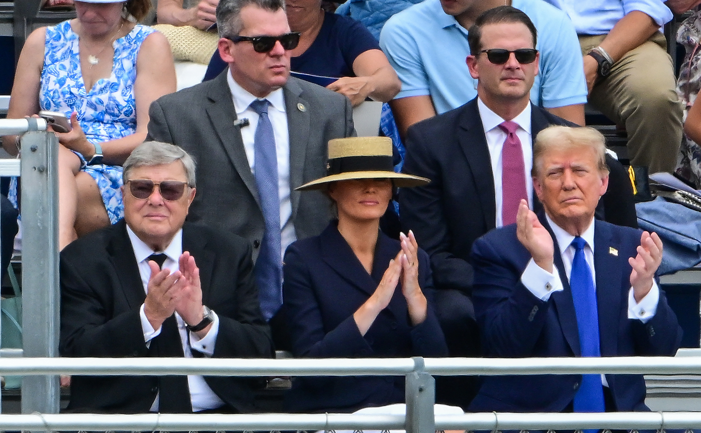
<instances>
[{"instance_id":1,"label":"black suit jacket of the clapping gray-haired man in sunglasses","mask_svg":"<svg viewBox=\"0 0 701 433\"><path fill-rule=\"evenodd\" d=\"M250 246L233 234L186 223L182 249L200 268L202 301L219 316L215 358L269 358ZM139 309L146 293L124 220L81 237L60 256L63 357L149 357ZM158 335L153 341L161 338ZM226 404L252 410L247 380L205 377ZM148 412L158 392L152 376L74 376L69 410ZM184 396L183 398L189 398Z\"/></svg>"}]
</instances>

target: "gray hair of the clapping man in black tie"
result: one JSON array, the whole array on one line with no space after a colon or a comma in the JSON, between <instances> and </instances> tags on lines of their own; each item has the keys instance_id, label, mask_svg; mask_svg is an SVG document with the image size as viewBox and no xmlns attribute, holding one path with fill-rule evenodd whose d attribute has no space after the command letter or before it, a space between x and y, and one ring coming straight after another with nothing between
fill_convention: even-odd
<instances>
[{"instance_id":1,"label":"gray hair of the clapping man in black tie","mask_svg":"<svg viewBox=\"0 0 701 433\"><path fill-rule=\"evenodd\" d=\"M195 160L180 147L160 141L145 141L133 150L127 160L124 161L124 170L122 171L123 183L126 185L132 168L160 166L175 161L182 162L185 175L187 176L187 185L194 188Z\"/></svg>"}]
</instances>

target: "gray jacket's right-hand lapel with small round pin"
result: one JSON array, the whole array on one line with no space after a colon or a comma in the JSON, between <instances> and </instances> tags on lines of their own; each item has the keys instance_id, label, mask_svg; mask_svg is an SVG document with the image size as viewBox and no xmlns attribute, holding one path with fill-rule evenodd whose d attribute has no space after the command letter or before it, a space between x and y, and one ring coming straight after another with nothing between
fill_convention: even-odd
<instances>
[{"instance_id":1,"label":"gray jacket's right-hand lapel with small round pin","mask_svg":"<svg viewBox=\"0 0 701 433\"><path fill-rule=\"evenodd\" d=\"M292 220L299 208L299 191L294 188L304 183L304 161L309 138L311 114L309 103L301 98L301 87L289 79L283 87L285 109L287 110L287 129L290 131L290 199L292 201Z\"/></svg>"}]
</instances>

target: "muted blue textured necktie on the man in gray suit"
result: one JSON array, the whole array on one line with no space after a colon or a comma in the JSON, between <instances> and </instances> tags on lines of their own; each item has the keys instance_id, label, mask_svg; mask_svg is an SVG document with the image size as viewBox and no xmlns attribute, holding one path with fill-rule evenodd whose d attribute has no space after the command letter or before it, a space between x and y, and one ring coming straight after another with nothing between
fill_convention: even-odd
<instances>
[{"instance_id":1,"label":"muted blue textured necktie on the man in gray suit","mask_svg":"<svg viewBox=\"0 0 701 433\"><path fill-rule=\"evenodd\" d=\"M268 100L254 100L251 109L259 115L254 136L253 170L258 188L265 233L255 265L261 312L270 320L283 305L283 258L280 235L280 196L278 192L278 153L273 124L268 117Z\"/></svg>"}]
</instances>

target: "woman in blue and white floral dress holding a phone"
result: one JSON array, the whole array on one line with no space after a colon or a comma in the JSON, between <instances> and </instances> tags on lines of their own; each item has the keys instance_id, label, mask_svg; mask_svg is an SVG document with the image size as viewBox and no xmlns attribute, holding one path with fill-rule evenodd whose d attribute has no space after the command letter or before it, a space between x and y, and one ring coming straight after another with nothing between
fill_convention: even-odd
<instances>
[{"instance_id":1,"label":"woman in blue and white floral dress holding a phone","mask_svg":"<svg viewBox=\"0 0 701 433\"><path fill-rule=\"evenodd\" d=\"M60 248L122 218L121 164L146 138L151 102L175 91L168 41L133 22L150 0L75 5L76 19L27 38L8 110L15 119L61 112L72 124L72 131L56 132ZM3 144L18 152L13 138Z\"/></svg>"}]
</instances>

